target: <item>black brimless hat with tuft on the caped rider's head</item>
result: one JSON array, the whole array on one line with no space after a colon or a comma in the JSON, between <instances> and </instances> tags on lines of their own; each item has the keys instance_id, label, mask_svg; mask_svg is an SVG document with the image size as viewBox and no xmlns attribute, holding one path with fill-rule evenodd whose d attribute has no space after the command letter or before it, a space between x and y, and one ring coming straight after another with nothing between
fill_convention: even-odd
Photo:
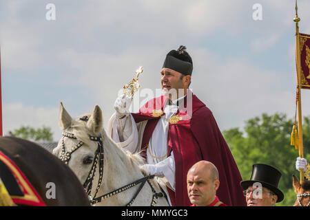
<instances>
[{"instance_id":1,"label":"black brimless hat with tuft on the caped rider's head","mask_svg":"<svg viewBox=\"0 0 310 220\"><path fill-rule=\"evenodd\" d=\"M163 68L173 69L181 74L192 76L193 61L186 52L186 47L180 45L178 50L171 50L166 56Z\"/></svg>"}]
</instances>

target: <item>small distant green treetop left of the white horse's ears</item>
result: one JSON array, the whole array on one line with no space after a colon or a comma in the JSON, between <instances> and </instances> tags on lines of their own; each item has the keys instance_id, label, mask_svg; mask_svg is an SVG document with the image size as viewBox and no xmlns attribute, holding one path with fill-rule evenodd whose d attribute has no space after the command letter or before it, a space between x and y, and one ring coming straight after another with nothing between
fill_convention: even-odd
<instances>
[{"instance_id":1,"label":"small distant green treetop left of the white horse's ears","mask_svg":"<svg viewBox=\"0 0 310 220\"><path fill-rule=\"evenodd\" d=\"M31 141L48 141L51 142L53 140L52 131L50 127L43 126L42 128L34 129L31 126L21 126L19 129L14 129L14 131L10 132L10 135L14 137L20 137L25 140Z\"/></svg>"}]
</instances>

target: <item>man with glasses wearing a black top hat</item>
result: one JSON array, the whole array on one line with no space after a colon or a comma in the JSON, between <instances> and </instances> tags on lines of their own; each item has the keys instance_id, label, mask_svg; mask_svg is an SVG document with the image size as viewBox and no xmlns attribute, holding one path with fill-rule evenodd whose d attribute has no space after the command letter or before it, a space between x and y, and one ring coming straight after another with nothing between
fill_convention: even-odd
<instances>
[{"instance_id":1,"label":"man with glasses wearing a black top hat","mask_svg":"<svg viewBox=\"0 0 310 220\"><path fill-rule=\"evenodd\" d=\"M266 164L254 164L250 180L241 181L247 206L273 206L284 199L278 189L281 173Z\"/></svg>"}]
</instances>

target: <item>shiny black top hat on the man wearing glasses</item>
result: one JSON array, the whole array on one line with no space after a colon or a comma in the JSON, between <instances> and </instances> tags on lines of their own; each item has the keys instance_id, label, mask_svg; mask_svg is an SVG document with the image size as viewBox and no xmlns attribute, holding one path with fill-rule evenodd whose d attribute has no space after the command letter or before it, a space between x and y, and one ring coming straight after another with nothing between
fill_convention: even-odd
<instances>
[{"instance_id":1,"label":"shiny black top hat on the man wearing glasses","mask_svg":"<svg viewBox=\"0 0 310 220\"><path fill-rule=\"evenodd\" d=\"M241 181L240 185L244 190L254 183L259 182L262 187L268 188L278 196L276 202L284 199L283 192L278 189L278 184L281 178L281 173L276 168L266 164L254 164L252 168L252 175L250 180Z\"/></svg>"}]
</instances>

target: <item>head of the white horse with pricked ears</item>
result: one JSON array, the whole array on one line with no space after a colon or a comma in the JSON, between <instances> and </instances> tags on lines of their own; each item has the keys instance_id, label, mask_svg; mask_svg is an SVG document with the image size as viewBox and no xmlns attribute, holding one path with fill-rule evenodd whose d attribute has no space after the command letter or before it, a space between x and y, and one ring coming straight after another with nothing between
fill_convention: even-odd
<instances>
[{"instance_id":1,"label":"head of the white horse with pricked ears","mask_svg":"<svg viewBox=\"0 0 310 220\"><path fill-rule=\"evenodd\" d=\"M103 126L102 111L96 105L92 115L84 115L74 120L61 103L59 125L63 137L54 148L53 154L68 164L84 184L96 159L98 142L95 137L99 138Z\"/></svg>"}]
</instances>

